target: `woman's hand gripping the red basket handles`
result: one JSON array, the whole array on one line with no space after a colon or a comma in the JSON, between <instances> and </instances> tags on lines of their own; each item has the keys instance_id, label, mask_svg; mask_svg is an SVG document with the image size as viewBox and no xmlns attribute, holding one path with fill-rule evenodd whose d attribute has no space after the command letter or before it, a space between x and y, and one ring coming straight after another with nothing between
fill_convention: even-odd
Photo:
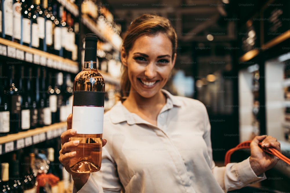
<instances>
[{"instance_id":1,"label":"woman's hand gripping the red basket handles","mask_svg":"<svg viewBox=\"0 0 290 193\"><path fill-rule=\"evenodd\" d=\"M275 137L261 135L256 136L250 144L251 147L251 156L250 156L250 164L251 168L258 176L265 171L273 168L276 163L279 161L279 158L271 155L267 152L264 152L260 147L259 143L262 142L262 147L272 147L281 152L280 143L277 141Z\"/></svg>"}]
</instances>

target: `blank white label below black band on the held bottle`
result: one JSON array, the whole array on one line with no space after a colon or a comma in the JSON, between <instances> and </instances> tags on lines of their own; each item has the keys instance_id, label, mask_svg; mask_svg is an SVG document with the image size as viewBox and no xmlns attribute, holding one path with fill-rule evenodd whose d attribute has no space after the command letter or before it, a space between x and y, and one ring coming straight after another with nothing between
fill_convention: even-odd
<instances>
[{"instance_id":1,"label":"blank white label below black band on the held bottle","mask_svg":"<svg viewBox=\"0 0 290 193\"><path fill-rule=\"evenodd\" d=\"M104 107L73 106L72 128L79 134L103 133Z\"/></svg>"}]
</instances>

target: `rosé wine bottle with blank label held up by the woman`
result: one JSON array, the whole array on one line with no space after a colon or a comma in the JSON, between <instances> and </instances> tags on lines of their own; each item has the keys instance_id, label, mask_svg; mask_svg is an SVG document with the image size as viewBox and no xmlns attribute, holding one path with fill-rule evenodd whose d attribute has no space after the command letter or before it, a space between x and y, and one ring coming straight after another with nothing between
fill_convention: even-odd
<instances>
[{"instance_id":1,"label":"ros\u00e9 wine bottle with blank label held up by the woman","mask_svg":"<svg viewBox=\"0 0 290 193\"><path fill-rule=\"evenodd\" d=\"M97 70L97 36L86 34L84 69L77 74L73 91L71 140L79 140L76 156L70 159L70 170L96 172L101 168L104 122L105 81Z\"/></svg>"}]
</instances>

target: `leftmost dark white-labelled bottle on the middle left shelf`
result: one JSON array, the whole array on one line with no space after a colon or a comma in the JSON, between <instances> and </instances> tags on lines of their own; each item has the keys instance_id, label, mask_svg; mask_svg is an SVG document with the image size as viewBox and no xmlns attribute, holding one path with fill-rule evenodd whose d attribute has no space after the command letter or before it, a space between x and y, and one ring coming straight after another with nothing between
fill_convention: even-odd
<instances>
[{"instance_id":1,"label":"leftmost dark white-labelled bottle on the middle left shelf","mask_svg":"<svg viewBox=\"0 0 290 193\"><path fill-rule=\"evenodd\" d=\"M10 112L7 95L7 78L3 76L3 65L0 64L0 136L5 136L10 130Z\"/></svg>"}]
</instances>

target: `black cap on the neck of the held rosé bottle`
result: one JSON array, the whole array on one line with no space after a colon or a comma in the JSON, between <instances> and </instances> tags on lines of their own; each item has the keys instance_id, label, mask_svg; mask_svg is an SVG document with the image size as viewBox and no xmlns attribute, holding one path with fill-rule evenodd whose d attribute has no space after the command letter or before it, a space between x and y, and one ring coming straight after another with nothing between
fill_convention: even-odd
<instances>
[{"instance_id":1,"label":"black cap on the neck of the held ros\u00e9 bottle","mask_svg":"<svg viewBox=\"0 0 290 193\"><path fill-rule=\"evenodd\" d=\"M86 34L85 38L85 61L97 61L97 42L95 34Z\"/></svg>"}]
</instances>

